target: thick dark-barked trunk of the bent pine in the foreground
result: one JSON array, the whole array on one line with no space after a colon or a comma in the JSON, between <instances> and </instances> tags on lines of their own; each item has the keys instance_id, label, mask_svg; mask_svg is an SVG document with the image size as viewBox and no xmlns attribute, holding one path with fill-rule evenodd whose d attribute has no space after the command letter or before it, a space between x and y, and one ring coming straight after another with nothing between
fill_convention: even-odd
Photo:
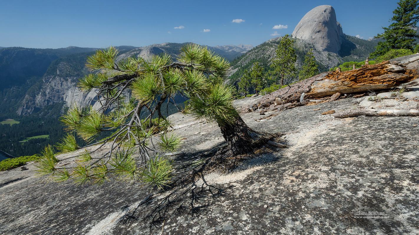
<instances>
[{"instance_id":1,"label":"thick dark-barked trunk of the bent pine in the foreground","mask_svg":"<svg viewBox=\"0 0 419 235\"><path fill-rule=\"evenodd\" d=\"M238 155L252 151L252 137L249 132L253 130L237 115L235 121L229 124L219 124L222 136L228 144L230 154Z\"/></svg>"}]
</instances>

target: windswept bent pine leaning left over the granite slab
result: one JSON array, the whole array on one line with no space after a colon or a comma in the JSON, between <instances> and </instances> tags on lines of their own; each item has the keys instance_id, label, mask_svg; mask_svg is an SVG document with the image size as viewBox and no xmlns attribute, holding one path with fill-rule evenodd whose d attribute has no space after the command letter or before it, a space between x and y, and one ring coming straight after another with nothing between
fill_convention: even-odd
<instances>
[{"instance_id":1,"label":"windswept bent pine leaning left over the granite slab","mask_svg":"<svg viewBox=\"0 0 419 235\"><path fill-rule=\"evenodd\" d=\"M115 174L123 180L140 179L158 187L168 184L171 162L164 153L175 152L181 139L169 131L171 124L161 114L165 101L185 114L218 124L227 148L213 159L250 153L254 146L269 139L268 134L254 132L241 119L233 107L233 88L224 82L230 64L207 48L189 44L182 48L177 61L165 54L153 56L150 61L116 61L117 54L114 47L97 51L87 61L87 67L95 73L79 82L83 91L95 89L101 108L74 106L62 116L69 134L57 148L62 152L78 149L75 135L79 136L90 142L89 146L95 145L91 151L72 156L86 163L57 167L59 160L47 147L38 163L41 174L78 183L103 183L109 174ZM187 98L186 106L176 104L175 96ZM153 121L153 116L158 116L158 121ZM114 134L93 143L102 131ZM156 136L159 141L155 146L151 140ZM105 144L110 146L109 151L99 157L91 156Z\"/></svg>"}]
</instances>

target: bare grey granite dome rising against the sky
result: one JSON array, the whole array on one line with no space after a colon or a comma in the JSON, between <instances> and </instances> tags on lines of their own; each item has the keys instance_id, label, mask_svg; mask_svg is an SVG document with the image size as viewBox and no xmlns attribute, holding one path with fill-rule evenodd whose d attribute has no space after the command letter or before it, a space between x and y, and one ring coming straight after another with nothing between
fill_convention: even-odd
<instances>
[{"instance_id":1,"label":"bare grey granite dome rising against the sky","mask_svg":"<svg viewBox=\"0 0 419 235\"><path fill-rule=\"evenodd\" d=\"M318 6L305 14L292 36L312 43L318 51L336 54L339 53L344 40L342 27L336 21L335 10L330 5Z\"/></svg>"}]
</instances>

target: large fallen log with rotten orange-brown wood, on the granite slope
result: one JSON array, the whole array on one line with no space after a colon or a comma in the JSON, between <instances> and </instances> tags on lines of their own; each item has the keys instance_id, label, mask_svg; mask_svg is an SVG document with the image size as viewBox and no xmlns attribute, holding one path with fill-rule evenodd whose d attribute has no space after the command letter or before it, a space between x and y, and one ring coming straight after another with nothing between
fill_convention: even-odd
<instances>
[{"instance_id":1,"label":"large fallen log with rotten orange-brown wood, on the granite slope","mask_svg":"<svg viewBox=\"0 0 419 235\"><path fill-rule=\"evenodd\" d=\"M418 61L419 55L414 54L365 65L351 71L321 73L262 96L257 104L250 105L250 109L298 102L303 93L305 93L304 99L310 100L336 93L350 94L393 88L419 78ZM247 110L247 107L244 110Z\"/></svg>"}]
</instances>

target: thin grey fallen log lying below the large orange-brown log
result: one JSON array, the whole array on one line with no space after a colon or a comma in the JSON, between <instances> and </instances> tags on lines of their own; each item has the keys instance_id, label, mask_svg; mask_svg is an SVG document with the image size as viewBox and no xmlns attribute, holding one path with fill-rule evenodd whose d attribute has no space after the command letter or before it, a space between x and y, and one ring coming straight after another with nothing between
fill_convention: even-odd
<instances>
[{"instance_id":1,"label":"thin grey fallen log lying below the large orange-brown log","mask_svg":"<svg viewBox=\"0 0 419 235\"><path fill-rule=\"evenodd\" d=\"M353 109L335 114L335 118L347 118L357 116L419 116L418 109Z\"/></svg>"}]
</instances>

